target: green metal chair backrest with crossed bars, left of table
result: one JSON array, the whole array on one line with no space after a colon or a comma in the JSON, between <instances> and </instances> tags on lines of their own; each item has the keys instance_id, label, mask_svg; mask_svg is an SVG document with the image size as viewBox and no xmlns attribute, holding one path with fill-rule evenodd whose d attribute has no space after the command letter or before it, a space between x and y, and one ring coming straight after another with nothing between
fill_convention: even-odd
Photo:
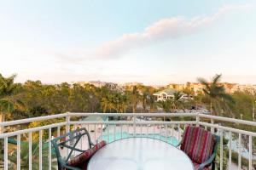
<instances>
[{"instance_id":1,"label":"green metal chair backrest with crossed bars, left of table","mask_svg":"<svg viewBox=\"0 0 256 170\"><path fill-rule=\"evenodd\" d=\"M80 150L77 145L79 144L79 140L84 136L87 136L89 148L91 148L94 144L92 144L90 140L90 134L86 130L86 128L78 128L74 131L66 133L60 137L51 140L51 144L53 144L55 148L55 154L57 156L58 161L58 169L62 169L63 165L67 165L67 161L72 156L73 151L84 152L85 150ZM73 143L73 144L72 144ZM69 152L67 156L61 156L60 147L67 148Z\"/></svg>"}]
</instances>

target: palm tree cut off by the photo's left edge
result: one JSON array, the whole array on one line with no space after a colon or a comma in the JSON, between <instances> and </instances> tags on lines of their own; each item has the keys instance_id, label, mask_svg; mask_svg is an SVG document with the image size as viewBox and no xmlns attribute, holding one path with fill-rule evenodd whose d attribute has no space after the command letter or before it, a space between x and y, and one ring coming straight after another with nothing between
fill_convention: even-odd
<instances>
[{"instance_id":1,"label":"palm tree cut off by the photo's left edge","mask_svg":"<svg viewBox=\"0 0 256 170\"><path fill-rule=\"evenodd\" d=\"M0 122L4 122L5 116L15 108L22 106L20 99L15 98L20 89L19 84L14 82L15 77L12 75L5 78L0 74ZM3 133L3 127L0 127L0 133Z\"/></svg>"}]
</instances>

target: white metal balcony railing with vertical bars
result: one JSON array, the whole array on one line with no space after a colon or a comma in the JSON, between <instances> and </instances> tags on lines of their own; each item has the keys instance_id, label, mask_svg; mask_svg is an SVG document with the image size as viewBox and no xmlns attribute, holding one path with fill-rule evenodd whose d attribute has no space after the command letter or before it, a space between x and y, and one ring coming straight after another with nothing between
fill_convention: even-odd
<instances>
[{"instance_id":1,"label":"white metal balcony railing with vertical bars","mask_svg":"<svg viewBox=\"0 0 256 170\"><path fill-rule=\"evenodd\" d=\"M107 119L86 121L83 118L86 116L104 116L104 117L122 117L123 120ZM142 119L140 119L143 116ZM149 119L148 117L151 117ZM158 119L161 120L158 120ZM167 120L168 121L163 121ZM49 120L58 120L58 123L44 125L40 127L26 128L28 123L42 122ZM61 121L61 122L60 122ZM244 125L250 128L256 127L256 122L249 122L233 118L221 116L209 116L199 113L64 113L53 116L41 116L11 122L0 122L0 127L19 127L19 130L11 132L9 128L8 133L0 134L0 140L3 140L3 169L18 169L26 167L27 169L52 169L55 167L55 157L52 153L50 140L52 136L60 136L67 133L71 128L86 127L91 139L94 143L99 140L107 140L112 142L116 139L123 139L131 136L143 136L149 138L156 138L165 140L170 144L177 144L182 139L183 128L187 125L195 125L205 127L212 133L218 133L220 138L219 144L219 168L224 169L225 160L227 161L229 169L255 169L253 161L256 161L255 151L253 151L253 141L256 139L256 132L253 130L244 130L235 128L237 125ZM22 128L23 127L23 128ZM45 137L44 133L48 133ZM228 139L227 148L224 144L224 139ZM254 139L254 140L253 140ZM16 141L16 144L11 144L11 141ZM28 144L27 153L28 165L24 165L24 156L21 157L22 144ZM38 156L35 153L33 144L38 144ZM81 148L85 144L81 142ZM46 147L47 146L47 147ZM46 148L46 149L45 149ZM83 148L84 149L84 148ZM14 154L16 150L16 155ZM23 149L24 150L24 149ZM37 150L36 150L37 151ZM45 151L48 155L45 160ZM62 154L66 154L64 150ZM12 152L12 153L10 153ZM236 152L237 157L233 156ZM0 153L1 154L1 153ZM225 156L227 154L227 156ZM15 156L13 156L15 155ZM11 157L12 156L12 157ZM14 162L14 157L16 161ZM237 162L234 163L234 158ZM247 161L246 165L242 161ZM25 161L26 162L26 161ZM254 166L254 167L253 167ZM1 167L0 167L1 169Z\"/></svg>"}]
</instances>

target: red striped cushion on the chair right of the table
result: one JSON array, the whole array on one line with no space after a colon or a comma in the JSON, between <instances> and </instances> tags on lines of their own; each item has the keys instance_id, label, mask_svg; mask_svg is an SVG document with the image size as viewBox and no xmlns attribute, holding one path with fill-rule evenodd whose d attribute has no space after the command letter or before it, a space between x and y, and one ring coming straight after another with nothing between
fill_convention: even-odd
<instances>
[{"instance_id":1,"label":"red striped cushion on the chair right of the table","mask_svg":"<svg viewBox=\"0 0 256 170\"><path fill-rule=\"evenodd\" d=\"M212 155L215 137L201 127L188 126L183 133L183 150L192 161L202 163Z\"/></svg>"}]
</instances>

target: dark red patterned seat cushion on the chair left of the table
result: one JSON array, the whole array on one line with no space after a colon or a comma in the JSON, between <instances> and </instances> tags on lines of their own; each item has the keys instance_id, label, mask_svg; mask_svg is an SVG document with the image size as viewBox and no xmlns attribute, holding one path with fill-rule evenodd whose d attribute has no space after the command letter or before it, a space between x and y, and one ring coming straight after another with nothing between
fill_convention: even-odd
<instances>
[{"instance_id":1,"label":"dark red patterned seat cushion on the chair left of the table","mask_svg":"<svg viewBox=\"0 0 256 170\"><path fill-rule=\"evenodd\" d=\"M102 140L100 143L96 144L90 150L84 151L84 153L80 154L79 156L75 156L74 158L70 159L67 162L67 165L72 167L80 167L84 170L84 167L87 167L87 162L90 160L90 157L93 156L97 150L101 149L107 143Z\"/></svg>"}]
</instances>

